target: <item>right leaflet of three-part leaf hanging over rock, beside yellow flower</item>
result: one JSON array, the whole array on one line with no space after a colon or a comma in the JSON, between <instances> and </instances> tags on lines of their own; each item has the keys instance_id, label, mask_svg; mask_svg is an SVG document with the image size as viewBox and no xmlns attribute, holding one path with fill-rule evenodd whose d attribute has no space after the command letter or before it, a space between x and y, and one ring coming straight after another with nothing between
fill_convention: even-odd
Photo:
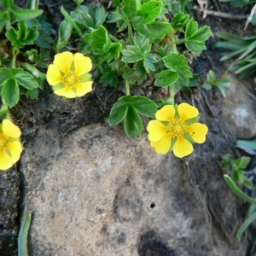
<instances>
[{"instance_id":1,"label":"right leaflet of three-part leaf hanging over rock, beside yellow flower","mask_svg":"<svg viewBox=\"0 0 256 256\"><path fill-rule=\"evenodd\" d=\"M131 107L134 108L137 113L154 118L157 111L157 105L147 97L132 96L129 102L131 103Z\"/></svg>"}]
</instances>

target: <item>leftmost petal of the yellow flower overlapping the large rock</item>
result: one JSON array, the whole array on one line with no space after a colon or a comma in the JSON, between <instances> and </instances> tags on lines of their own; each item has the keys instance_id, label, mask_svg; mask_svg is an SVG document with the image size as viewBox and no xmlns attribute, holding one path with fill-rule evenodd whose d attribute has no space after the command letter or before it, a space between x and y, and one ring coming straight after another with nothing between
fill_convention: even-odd
<instances>
[{"instance_id":1,"label":"leftmost petal of the yellow flower overlapping the large rock","mask_svg":"<svg viewBox=\"0 0 256 256\"><path fill-rule=\"evenodd\" d=\"M148 123L147 131L150 142L158 142L166 134L169 128L158 120L151 120Z\"/></svg>"}]
</instances>

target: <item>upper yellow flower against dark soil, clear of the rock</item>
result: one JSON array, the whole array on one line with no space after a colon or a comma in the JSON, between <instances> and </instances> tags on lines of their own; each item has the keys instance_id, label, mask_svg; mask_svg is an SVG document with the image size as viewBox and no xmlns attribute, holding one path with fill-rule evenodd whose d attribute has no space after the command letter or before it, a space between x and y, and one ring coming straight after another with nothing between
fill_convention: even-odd
<instances>
[{"instance_id":1,"label":"upper yellow flower against dark soil, clear of the rock","mask_svg":"<svg viewBox=\"0 0 256 256\"><path fill-rule=\"evenodd\" d=\"M65 51L55 55L53 64L49 64L46 79L53 86L56 95L66 98L80 97L92 90L89 73L91 68L89 57Z\"/></svg>"}]
</instances>

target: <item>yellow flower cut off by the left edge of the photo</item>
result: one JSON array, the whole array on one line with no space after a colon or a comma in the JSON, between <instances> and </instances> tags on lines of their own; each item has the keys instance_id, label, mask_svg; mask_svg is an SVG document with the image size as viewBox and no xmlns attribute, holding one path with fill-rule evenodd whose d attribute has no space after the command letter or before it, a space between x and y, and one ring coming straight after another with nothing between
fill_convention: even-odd
<instances>
[{"instance_id":1,"label":"yellow flower cut off by the left edge of the photo","mask_svg":"<svg viewBox=\"0 0 256 256\"><path fill-rule=\"evenodd\" d=\"M0 170L8 170L19 159L23 150L20 143L21 131L9 119L0 124Z\"/></svg>"}]
</instances>

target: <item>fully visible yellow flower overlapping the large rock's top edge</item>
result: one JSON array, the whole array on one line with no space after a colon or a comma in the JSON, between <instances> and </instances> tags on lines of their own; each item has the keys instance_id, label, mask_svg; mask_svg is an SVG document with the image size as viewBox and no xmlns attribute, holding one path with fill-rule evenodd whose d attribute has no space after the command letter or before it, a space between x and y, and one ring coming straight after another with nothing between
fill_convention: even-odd
<instances>
[{"instance_id":1,"label":"fully visible yellow flower overlapping the large rock's top edge","mask_svg":"<svg viewBox=\"0 0 256 256\"><path fill-rule=\"evenodd\" d=\"M148 123L148 140L158 154L170 150L177 157L191 154L192 143L204 143L207 136L207 125L196 123L198 109L187 103L174 108L166 105L155 113L156 120Z\"/></svg>"}]
</instances>

